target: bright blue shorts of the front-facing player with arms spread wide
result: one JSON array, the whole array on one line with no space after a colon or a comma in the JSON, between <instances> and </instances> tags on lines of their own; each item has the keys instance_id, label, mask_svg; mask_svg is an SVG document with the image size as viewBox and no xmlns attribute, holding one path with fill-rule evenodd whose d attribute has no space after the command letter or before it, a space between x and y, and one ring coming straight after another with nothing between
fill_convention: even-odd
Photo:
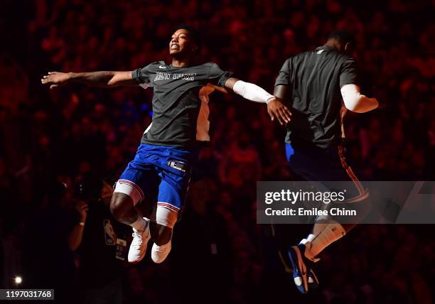
<instances>
[{"instance_id":1,"label":"bright blue shorts of the front-facing player with arms spread wide","mask_svg":"<svg viewBox=\"0 0 435 304\"><path fill-rule=\"evenodd\" d=\"M128 194L134 205L146 198L158 207L179 212L197 158L196 149L141 143L119 177L115 192Z\"/></svg>"}]
</instances>

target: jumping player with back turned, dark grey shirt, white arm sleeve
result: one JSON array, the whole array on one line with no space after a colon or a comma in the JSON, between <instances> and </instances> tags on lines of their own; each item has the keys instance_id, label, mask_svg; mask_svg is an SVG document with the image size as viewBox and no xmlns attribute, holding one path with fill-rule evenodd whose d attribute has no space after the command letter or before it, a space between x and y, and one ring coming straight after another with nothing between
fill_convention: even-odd
<instances>
[{"instance_id":1,"label":"jumping player with back turned, dark grey shirt, white arm sleeve","mask_svg":"<svg viewBox=\"0 0 435 304\"><path fill-rule=\"evenodd\" d=\"M276 78L274 95L292 113L285 140L291 170L311 181L353 181L355 189L347 193L346 202L356 203L366 200L368 191L345 161L343 112L369 112L378 102L360 93L355 60L350 55L353 45L350 33L335 31L325 45L287 59ZM323 222L318 217L311 234L288 249L294 282L301 293L318 284L311 268L316 256L354 226L333 219Z\"/></svg>"}]
</instances>

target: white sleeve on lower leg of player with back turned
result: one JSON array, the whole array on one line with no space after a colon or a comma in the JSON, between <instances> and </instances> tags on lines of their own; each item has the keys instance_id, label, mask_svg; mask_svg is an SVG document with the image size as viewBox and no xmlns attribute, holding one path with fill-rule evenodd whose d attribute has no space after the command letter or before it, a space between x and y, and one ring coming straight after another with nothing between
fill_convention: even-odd
<instances>
[{"instance_id":1,"label":"white sleeve on lower leg of player with back turned","mask_svg":"<svg viewBox=\"0 0 435 304\"><path fill-rule=\"evenodd\" d=\"M345 229L338 223L314 224L314 238L305 244L306 258L313 261L323 249L341 239L345 234Z\"/></svg>"}]
</instances>

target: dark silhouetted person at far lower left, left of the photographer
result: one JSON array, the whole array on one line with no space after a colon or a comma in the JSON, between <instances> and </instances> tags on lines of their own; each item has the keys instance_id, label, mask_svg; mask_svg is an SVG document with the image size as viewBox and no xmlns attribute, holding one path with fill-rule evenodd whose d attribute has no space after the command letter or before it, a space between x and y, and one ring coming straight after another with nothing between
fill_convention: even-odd
<instances>
[{"instance_id":1,"label":"dark silhouetted person at far lower left, left of the photographer","mask_svg":"<svg viewBox=\"0 0 435 304\"><path fill-rule=\"evenodd\" d=\"M41 204L25 218L24 235L35 237L21 244L21 288L53 288L58 303L76 303L75 256L68 248L75 217L69 208L68 185L56 177L41 192Z\"/></svg>"}]
</instances>

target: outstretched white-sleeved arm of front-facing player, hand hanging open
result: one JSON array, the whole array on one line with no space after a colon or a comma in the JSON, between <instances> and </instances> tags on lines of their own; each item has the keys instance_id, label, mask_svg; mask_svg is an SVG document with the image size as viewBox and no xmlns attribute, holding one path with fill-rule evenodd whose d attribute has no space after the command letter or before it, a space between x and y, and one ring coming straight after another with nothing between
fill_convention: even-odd
<instances>
[{"instance_id":1,"label":"outstretched white-sleeved arm of front-facing player, hand hanging open","mask_svg":"<svg viewBox=\"0 0 435 304\"><path fill-rule=\"evenodd\" d=\"M274 97L274 95L269 94L261 87L254 85L250 82L244 82L238 80L235 77L230 77L225 82L225 88L232 89L236 94L251 100L252 102L262 102L267 104L267 112L270 115L272 121L278 119L280 124L284 124L290 121L291 112L284 104ZM272 106L272 107L271 107Z\"/></svg>"}]
</instances>

